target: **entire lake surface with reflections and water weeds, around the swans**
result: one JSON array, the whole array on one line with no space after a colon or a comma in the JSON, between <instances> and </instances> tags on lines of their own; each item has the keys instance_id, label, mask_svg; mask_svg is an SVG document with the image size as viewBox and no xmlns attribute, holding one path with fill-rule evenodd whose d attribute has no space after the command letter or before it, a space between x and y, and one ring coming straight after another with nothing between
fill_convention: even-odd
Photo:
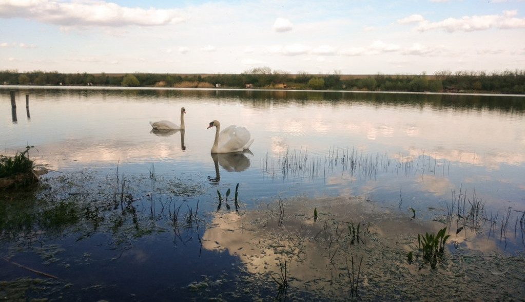
<instances>
[{"instance_id":1,"label":"entire lake surface with reflections and water weeds, around the swans","mask_svg":"<svg viewBox=\"0 0 525 302\"><path fill-rule=\"evenodd\" d=\"M2 154L33 145L48 170L2 192L9 297L525 295L524 96L24 86L0 96ZM181 107L185 130L152 131L150 121L180 124ZM212 120L246 127L249 151L211 154ZM429 267L418 235L445 227Z\"/></svg>"}]
</instances>

